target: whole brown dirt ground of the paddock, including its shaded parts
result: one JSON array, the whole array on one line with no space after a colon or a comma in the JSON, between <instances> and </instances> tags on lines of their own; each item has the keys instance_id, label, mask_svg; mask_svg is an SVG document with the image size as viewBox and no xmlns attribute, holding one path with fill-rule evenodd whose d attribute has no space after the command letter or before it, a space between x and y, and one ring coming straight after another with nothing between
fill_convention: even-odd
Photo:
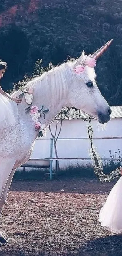
<instances>
[{"instance_id":1,"label":"whole brown dirt ground of the paddock, including its shaded parts","mask_svg":"<svg viewBox=\"0 0 122 256\"><path fill-rule=\"evenodd\" d=\"M122 236L98 223L114 183L13 182L0 221L9 244L0 256L121 256Z\"/></svg>"}]
</instances>

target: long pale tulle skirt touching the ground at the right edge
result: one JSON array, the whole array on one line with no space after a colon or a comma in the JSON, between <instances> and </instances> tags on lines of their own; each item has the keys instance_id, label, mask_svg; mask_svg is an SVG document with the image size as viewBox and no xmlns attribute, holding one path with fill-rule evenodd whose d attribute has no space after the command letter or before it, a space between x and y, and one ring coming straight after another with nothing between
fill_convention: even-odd
<instances>
[{"instance_id":1,"label":"long pale tulle skirt touching the ground at the right edge","mask_svg":"<svg viewBox=\"0 0 122 256\"><path fill-rule=\"evenodd\" d=\"M100 210L99 222L114 233L122 233L122 177L111 189Z\"/></svg>"}]
</instances>

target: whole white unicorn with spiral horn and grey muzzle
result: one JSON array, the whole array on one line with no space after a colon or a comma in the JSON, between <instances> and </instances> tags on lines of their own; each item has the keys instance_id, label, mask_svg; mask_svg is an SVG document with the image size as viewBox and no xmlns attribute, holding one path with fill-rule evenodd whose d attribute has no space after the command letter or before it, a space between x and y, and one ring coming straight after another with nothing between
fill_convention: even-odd
<instances>
[{"instance_id":1,"label":"whole white unicorn with spiral horn and grey muzzle","mask_svg":"<svg viewBox=\"0 0 122 256\"><path fill-rule=\"evenodd\" d=\"M33 120L32 115L25 113L28 97L23 97L22 103L18 105L18 124L14 128L10 125L0 131L0 214L16 168L27 162L31 156L41 120L46 128L62 108L69 106L83 110L100 123L110 120L110 107L95 83L94 66L97 58L105 52L111 42L112 40L93 55L86 56L83 51L80 58L68 61L28 81L29 90L33 85L33 105L41 108L44 104L44 108L49 109L49 112L45 114L44 120L43 116L36 116L37 120ZM21 93L22 91L18 90L12 97L18 97ZM14 109L16 103L11 101L11 104ZM34 121L38 121L37 129ZM4 243L8 241L0 232L0 246Z\"/></svg>"}]
</instances>

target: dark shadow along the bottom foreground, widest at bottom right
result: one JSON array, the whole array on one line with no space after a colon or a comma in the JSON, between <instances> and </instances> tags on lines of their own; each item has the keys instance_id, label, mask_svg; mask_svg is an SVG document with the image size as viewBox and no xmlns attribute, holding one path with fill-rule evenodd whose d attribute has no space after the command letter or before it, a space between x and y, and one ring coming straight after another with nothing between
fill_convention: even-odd
<instances>
[{"instance_id":1,"label":"dark shadow along the bottom foreground, widest at bottom right","mask_svg":"<svg viewBox=\"0 0 122 256\"><path fill-rule=\"evenodd\" d=\"M13 250L14 251L14 250ZM32 251L22 252L21 250L16 251L15 253L11 251L6 254L0 252L0 256L32 256ZM54 252L50 250L48 252L41 252L35 256L122 256L122 235L113 235L107 236L105 238L98 238L96 240L90 240L80 249L75 248L74 250L69 250L68 252Z\"/></svg>"}]
</instances>

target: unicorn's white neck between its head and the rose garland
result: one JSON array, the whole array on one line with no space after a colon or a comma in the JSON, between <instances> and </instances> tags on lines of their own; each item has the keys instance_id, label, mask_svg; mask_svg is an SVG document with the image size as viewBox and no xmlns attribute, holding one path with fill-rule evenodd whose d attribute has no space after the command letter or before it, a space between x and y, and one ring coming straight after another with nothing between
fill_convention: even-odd
<instances>
[{"instance_id":1,"label":"unicorn's white neck between its head and the rose garland","mask_svg":"<svg viewBox=\"0 0 122 256\"><path fill-rule=\"evenodd\" d=\"M62 108L69 106L67 96L73 79L71 65L69 63L65 63L60 67L56 67L52 72L49 71L44 74L43 78L35 78L30 81L30 85L31 83L34 85L34 99L32 104L38 106L40 109L42 105L44 105L44 110L49 109L49 112L45 115L45 119L43 120L42 117L42 119L39 120L45 124L45 127L50 124ZM22 108L22 106L27 108L26 105L27 104L24 99L20 108Z\"/></svg>"}]
</instances>

